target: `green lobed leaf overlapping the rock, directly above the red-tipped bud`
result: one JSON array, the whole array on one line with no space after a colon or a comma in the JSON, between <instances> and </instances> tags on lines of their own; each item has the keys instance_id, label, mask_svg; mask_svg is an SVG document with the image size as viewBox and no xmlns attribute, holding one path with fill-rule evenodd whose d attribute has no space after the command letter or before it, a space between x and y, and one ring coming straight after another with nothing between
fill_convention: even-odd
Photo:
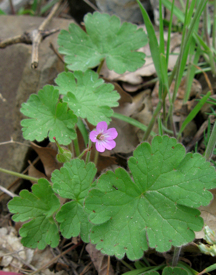
<instances>
[{"instance_id":1,"label":"green lobed leaf overlapping the rock, directly above the red-tipped bud","mask_svg":"<svg viewBox=\"0 0 216 275\"><path fill-rule=\"evenodd\" d=\"M20 111L30 119L23 119L23 137L30 141L44 140L49 133L49 140L53 137L60 144L68 145L71 139L76 138L74 131L77 116L68 110L67 103L60 103L59 92L53 86L46 85L39 90L38 95L32 94Z\"/></svg>"}]
</instances>

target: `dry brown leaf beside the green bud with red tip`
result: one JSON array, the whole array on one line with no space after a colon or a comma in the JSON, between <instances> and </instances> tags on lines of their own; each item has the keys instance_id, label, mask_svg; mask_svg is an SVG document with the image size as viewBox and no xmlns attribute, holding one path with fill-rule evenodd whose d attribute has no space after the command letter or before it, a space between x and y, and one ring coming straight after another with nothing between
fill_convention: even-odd
<instances>
[{"instance_id":1,"label":"dry brown leaf beside the green bud with red tip","mask_svg":"<svg viewBox=\"0 0 216 275\"><path fill-rule=\"evenodd\" d=\"M31 142L31 147L40 157L44 166L45 174L50 179L52 172L55 169L60 169L60 167L62 167L62 164L58 163L56 160L57 151L52 148L41 147L33 142Z\"/></svg>"}]
</instances>

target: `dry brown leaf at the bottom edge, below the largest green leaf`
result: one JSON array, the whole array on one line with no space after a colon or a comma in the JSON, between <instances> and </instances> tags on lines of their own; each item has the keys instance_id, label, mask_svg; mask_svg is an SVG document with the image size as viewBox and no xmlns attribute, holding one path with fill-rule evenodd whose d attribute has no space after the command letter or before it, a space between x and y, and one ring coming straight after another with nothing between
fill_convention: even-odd
<instances>
[{"instance_id":1,"label":"dry brown leaf at the bottom edge, below the largest green leaf","mask_svg":"<svg viewBox=\"0 0 216 275\"><path fill-rule=\"evenodd\" d=\"M108 273L108 257L106 255L103 255L99 250L95 249L95 246L91 243L87 244L85 247L85 250L88 252L95 269L98 272L98 275L113 275L114 270L112 265L109 265L109 273Z\"/></svg>"}]
</instances>

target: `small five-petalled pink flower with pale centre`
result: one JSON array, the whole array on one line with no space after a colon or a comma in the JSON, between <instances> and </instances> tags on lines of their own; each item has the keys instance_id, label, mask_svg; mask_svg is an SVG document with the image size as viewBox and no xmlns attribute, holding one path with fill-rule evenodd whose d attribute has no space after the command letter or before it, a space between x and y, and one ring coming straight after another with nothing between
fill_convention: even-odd
<instances>
[{"instance_id":1,"label":"small five-petalled pink flower with pale centre","mask_svg":"<svg viewBox=\"0 0 216 275\"><path fill-rule=\"evenodd\" d=\"M96 149L98 152L104 152L105 148L112 150L116 143L113 140L118 135L115 128L110 128L107 130L107 123L101 121L97 124L96 130L91 131L89 138L92 142L96 142Z\"/></svg>"}]
</instances>

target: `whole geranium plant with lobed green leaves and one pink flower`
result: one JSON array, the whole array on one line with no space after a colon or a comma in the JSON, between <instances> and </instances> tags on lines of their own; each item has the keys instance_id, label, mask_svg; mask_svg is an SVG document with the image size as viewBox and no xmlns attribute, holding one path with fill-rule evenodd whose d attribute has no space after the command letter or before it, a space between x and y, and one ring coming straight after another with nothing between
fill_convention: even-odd
<instances>
[{"instance_id":1,"label":"whole geranium plant with lobed green leaves and one pink flower","mask_svg":"<svg viewBox=\"0 0 216 275\"><path fill-rule=\"evenodd\" d=\"M51 182L41 178L31 192L23 190L9 202L13 220L26 222L19 232L21 242L44 249L58 246L60 234L80 235L104 254L118 259L126 254L131 260L141 258L148 248L165 252L188 244L194 231L203 228L197 208L212 200L208 190L216 188L215 168L160 131L151 144L141 142L135 148L128 159L130 173L119 167L96 178L96 162L89 161L92 142L98 152L116 146L118 133L108 125L120 96L90 68L106 61L117 73L135 71L145 62L145 54L136 50L148 40L141 28L121 25L116 16L96 12L87 14L84 22L86 32L70 24L58 38L59 52L73 72L60 73L56 86L44 86L23 103L21 112L28 118L21 125L25 139L42 141L48 136L61 145L77 138L81 119L96 129L76 158L58 144L57 159L63 167L53 171ZM67 202L60 205L59 196ZM167 267L163 274L188 273Z\"/></svg>"}]
</instances>

